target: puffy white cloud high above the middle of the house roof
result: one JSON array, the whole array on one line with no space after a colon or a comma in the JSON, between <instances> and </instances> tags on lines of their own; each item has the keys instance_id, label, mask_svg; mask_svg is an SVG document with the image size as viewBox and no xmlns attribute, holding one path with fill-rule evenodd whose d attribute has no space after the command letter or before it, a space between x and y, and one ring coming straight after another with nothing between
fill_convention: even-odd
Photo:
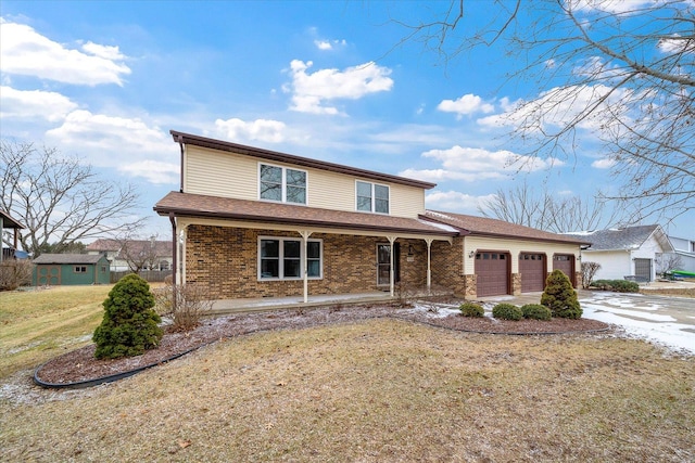
<instances>
[{"instance_id":1,"label":"puffy white cloud high above the middle of the house roof","mask_svg":"<svg viewBox=\"0 0 695 463\"><path fill-rule=\"evenodd\" d=\"M313 74L306 70L313 62L292 60L290 74L292 82L286 91L291 91L291 110L301 113L340 114L337 107L326 105L333 100L358 100L369 93L389 91L393 80L388 77L391 69L374 62L348 67L344 70L319 69Z\"/></svg>"}]
</instances>

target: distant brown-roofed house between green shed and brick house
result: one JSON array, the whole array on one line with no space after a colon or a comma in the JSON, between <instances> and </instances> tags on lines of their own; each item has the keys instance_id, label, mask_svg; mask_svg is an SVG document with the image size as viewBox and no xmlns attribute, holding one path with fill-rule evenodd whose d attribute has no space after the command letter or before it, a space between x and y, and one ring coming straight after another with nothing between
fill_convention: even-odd
<instances>
[{"instance_id":1,"label":"distant brown-roofed house between green shed and brick house","mask_svg":"<svg viewBox=\"0 0 695 463\"><path fill-rule=\"evenodd\" d=\"M132 270L128 262L141 266L141 270L170 270L173 262L172 242L150 240L97 240L86 247L87 254L104 254L111 270Z\"/></svg>"}]
</instances>

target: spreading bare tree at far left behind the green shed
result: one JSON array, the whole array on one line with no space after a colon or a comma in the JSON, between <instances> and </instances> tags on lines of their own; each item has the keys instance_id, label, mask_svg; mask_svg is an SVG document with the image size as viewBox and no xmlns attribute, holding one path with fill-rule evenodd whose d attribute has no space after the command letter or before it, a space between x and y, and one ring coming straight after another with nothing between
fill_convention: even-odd
<instances>
[{"instance_id":1,"label":"spreading bare tree at far left behind the green shed","mask_svg":"<svg viewBox=\"0 0 695 463\"><path fill-rule=\"evenodd\" d=\"M35 256L136 228L138 200L131 185L100 179L54 147L0 141L0 207L26 227L20 241Z\"/></svg>"}]
</instances>

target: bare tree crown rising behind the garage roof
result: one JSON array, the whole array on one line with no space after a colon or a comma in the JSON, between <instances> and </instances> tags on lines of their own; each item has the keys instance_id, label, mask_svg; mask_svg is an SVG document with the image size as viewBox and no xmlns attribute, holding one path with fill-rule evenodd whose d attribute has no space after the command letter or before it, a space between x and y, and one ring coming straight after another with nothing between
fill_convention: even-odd
<instances>
[{"instance_id":1,"label":"bare tree crown rising behind the garage roof","mask_svg":"<svg viewBox=\"0 0 695 463\"><path fill-rule=\"evenodd\" d=\"M627 217L622 209L611 208L604 201L557 196L545 189L536 192L526 181L508 191L497 190L478 211L484 217L555 233L616 227L623 224Z\"/></svg>"}]
</instances>

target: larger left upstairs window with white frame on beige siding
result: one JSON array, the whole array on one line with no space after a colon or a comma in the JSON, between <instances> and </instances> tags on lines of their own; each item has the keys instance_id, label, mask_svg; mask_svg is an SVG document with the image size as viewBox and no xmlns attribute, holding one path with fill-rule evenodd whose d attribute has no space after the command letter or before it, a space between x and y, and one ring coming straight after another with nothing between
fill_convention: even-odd
<instances>
[{"instance_id":1,"label":"larger left upstairs window with white frame on beige siding","mask_svg":"<svg viewBox=\"0 0 695 463\"><path fill-rule=\"evenodd\" d=\"M306 204L306 172L288 167L258 165L258 197L282 203Z\"/></svg>"}]
</instances>

